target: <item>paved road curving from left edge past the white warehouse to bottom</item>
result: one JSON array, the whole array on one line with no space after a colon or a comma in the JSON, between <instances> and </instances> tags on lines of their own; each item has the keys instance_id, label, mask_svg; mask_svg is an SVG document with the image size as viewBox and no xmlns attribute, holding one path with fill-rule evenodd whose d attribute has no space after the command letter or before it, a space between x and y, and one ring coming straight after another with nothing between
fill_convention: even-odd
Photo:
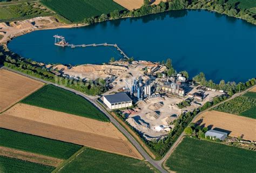
<instances>
[{"instance_id":1,"label":"paved road curving from left edge past the white warehouse to bottom","mask_svg":"<svg viewBox=\"0 0 256 173\"><path fill-rule=\"evenodd\" d=\"M147 153L146 151L142 148L142 146L140 146L140 144L133 138L132 135L130 135L129 132L126 131L126 129L121 126L119 124L119 122L113 118L112 115L110 115L108 112L105 111L105 109L99 105L98 102L96 102L95 100L92 100L91 98L89 98L89 96L85 95L84 93L81 93L81 92L78 92L74 89L71 89L71 88L68 88L68 87L64 87L64 86L61 86L61 85L57 85L57 84L54 84L52 82L49 82L49 81L45 81L43 79L39 79L39 78L35 78L35 77L32 77L31 75L28 75L28 74L24 74L24 73L21 73L21 72L18 72L18 71L15 71L15 70L11 70L9 68L6 68L6 67L2 67L3 69L5 70L9 70L9 71L12 71L12 72L15 72L15 73L18 73L18 74L21 74L21 75L24 75L25 77L28 77L28 78L31 78L31 79L35 79L35 80L38 80L38 81L41 81L45 84L52 84L52 85L55 85L57 87L60 87L60 88L63 88L63 89L66 89L68 91L71 91L73 93L76 93L77 95L80 95L82 96L83 98L85 98L86 100L90 101L91 103L93 103L93 105L95 105L98 109L100 109L107 117L109 117L110 121L114 124L114 126L116 126L126 137L127 139L129 139L131 141L131 143L133 144L134 147L137 148L137 150L139 151L140 154L142 154L142 156L147 160L149 161L149 163L151 163L156 169L158 169L160 172L162 173L167 173L167 171L165 169L163 169L161 167L161 163L158 163L157 161L154 161Z\"/></svg>"}]
</instances>

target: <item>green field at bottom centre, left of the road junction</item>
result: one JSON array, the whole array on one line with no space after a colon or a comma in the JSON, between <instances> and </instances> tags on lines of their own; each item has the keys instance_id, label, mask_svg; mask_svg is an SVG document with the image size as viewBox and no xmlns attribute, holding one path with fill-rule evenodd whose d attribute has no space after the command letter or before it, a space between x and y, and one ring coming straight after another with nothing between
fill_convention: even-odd
<instances>
[{"instance_id":1,"label":"green field at bottom centre, left of the road junction","mask_svg":"<svg viewBox=\"0 0 256 173\"><path fill-rule=\"evenodd\" d=\"M82 173L82 172L117 172L136 173L154 172L144 161L134 158L120 156L86 148L83 153L75 158L71 163L65 165L59 172L62 173Z\"/></svg>"}]
</instances>

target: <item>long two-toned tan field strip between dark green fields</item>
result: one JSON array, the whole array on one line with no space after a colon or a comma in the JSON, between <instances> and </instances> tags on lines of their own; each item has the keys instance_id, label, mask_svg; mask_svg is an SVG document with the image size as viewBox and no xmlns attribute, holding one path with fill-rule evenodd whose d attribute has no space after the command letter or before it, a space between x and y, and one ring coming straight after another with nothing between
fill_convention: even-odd
<instances>
[{"instance_id":1,"label":"long two-toned tan field strip between dark green fields","mask_svg":"<svg viewBox=\"0 0 256 173\"><path fill-rule=\"evenodd\" d=\"M1 115L0 127L143 159L109 122L18 104Z\"/></svg>"}]
</instances>

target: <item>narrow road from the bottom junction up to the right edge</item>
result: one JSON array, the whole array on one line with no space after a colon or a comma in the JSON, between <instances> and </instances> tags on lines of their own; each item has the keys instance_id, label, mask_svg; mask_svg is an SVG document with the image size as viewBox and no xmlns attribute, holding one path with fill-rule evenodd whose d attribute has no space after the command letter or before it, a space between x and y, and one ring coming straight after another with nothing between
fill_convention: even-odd
<instances>
[{"instance_id":1,"label":"narrow road from the bottom junction up to the right edge","mask_svg":"<svg viewBox=\"0 0 256 173\"><path fill-rule=\"evenodd\" d=\"M197 114L196 116L194 116L194 118L193 118L193 120L192 120L191 122L193 122L194 120L196 120L197 117L198 117L200 114L203 114L204 112L207 112L208 110L210 110L210 109L212 109L212 108L214 108L214 107L217 107L217 106L219 106L220 104L222 104L222 103L224 103L224 102L230 101L230 100L236 98L237 96L240 96L240 95L246 93L247 91L249 91L250 89L252 89L252 88L254 88L254 87L256 87L256 86L252 86L252 87L246 89L246 90L243 91L243 92L234 94L233 96L231 96L231 98L228 98L227 100L222 101L222 102L218 103L217 105L214 105L214 106L212 106L212 107L210 107L210 108L208 108L208 109L205 109L203 112L200 112L199 114ZM176 140L176 142L174 142L174 144L172 145L172 147L170 148L170 150L166 153L166 155L165 155L160 161L156 161L159 165L162 165L162 164L164 163L164 161L170 156L171 152L178 146L180 140L183 138L184 135L185 135L184 132L181 133L181 135L178 137L178 139Z\"/></svg>"}]
</instances>

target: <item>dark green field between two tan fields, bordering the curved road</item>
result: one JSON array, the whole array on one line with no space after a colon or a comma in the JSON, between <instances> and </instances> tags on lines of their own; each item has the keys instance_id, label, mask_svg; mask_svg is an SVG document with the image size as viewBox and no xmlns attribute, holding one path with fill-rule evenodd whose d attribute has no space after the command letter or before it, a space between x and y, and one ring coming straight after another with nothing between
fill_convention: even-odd
<instances>
[{"instance_id":1,"label":"dark green field between two tan fields, bordering the curved road","mask_svg":"<svg viewBox=\"0 0 256 173\"><path fill-rule=\"evenodd\" d=\"M21 102L100 121L109 121L100 110L82 96L53 85L44 86Z\"/></svg>"}]
</instances>

